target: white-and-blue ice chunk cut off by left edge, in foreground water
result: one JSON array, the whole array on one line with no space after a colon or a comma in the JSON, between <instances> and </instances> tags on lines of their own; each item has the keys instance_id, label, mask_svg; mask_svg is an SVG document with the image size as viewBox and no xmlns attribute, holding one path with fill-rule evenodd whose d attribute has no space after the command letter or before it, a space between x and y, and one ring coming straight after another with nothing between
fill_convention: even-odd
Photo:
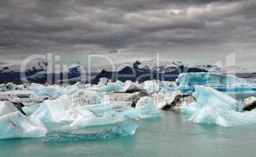
<instances>
[{"instance_id":1,"label":"white-and-blue ice chunk cut off by left edge, in foreground water","mask_svg":"<svg viewBox=\"0 0 256 157\"><path fill-rule=\"evenodd\" d=\"M32 121L20 111L0 117L0 139L17 137L44 137L46 128L39 121Z\"/></svg>"}]
</instances>

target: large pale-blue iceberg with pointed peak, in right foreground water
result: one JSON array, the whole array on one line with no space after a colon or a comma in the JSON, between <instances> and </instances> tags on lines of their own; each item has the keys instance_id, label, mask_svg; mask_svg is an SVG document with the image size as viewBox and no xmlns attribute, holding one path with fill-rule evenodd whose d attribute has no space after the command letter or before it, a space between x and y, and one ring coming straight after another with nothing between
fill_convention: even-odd
<instances>
[{"instance_id":1,"label":"large pale-blue iceberg with pointed peak, in right foreground water","mask_svg":"<svg viewBox=\"0 0 256 157\"><path fill-rule=\"evenodd\" d=\"M191 122L217 126L255 125L256 114L243 112L239 101L226 93L206 86L195 86L195 105L183 105L181 112Z\"/></svg>"}]
</instances>

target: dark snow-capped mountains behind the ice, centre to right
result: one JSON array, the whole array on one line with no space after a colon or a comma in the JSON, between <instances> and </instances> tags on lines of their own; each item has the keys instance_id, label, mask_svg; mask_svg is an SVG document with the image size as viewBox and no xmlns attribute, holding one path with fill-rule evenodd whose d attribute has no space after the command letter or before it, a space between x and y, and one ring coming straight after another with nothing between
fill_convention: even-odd
<instances>
[{"instance_id":1,"label":"dark snow-capped mountains behind the ice, centre to right","mask_svg":"<svg viewBox=\"0 0 256 157\"><path fill-rule=\"evenodd\" d=\"M217 71L217 67L214 66L187 66L181 62L172 62L168 65L154 65L148 64L148 62L140 63L135 61L132 66L125 66L120 71L106 71L103 69L92 80L92 83L96 84L101 78L111 79L112 81L120 80L132 80L133 82L144 82L150 79L158 79L163 81L175 81L181 73L184 72L208 72Z\"/></svg>"}]
</instances>

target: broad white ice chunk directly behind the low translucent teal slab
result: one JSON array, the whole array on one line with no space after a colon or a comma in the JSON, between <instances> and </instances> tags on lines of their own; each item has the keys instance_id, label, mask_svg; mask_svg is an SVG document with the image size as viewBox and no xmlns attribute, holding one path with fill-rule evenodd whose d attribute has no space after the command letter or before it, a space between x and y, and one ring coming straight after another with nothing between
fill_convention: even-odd
<instances>
[{"instance_id":1,"label":"broad white ice chunk directly behind the low translucent teal slab","mask_svg":"<svg viewBox=\"0 0 256 157\"><path fill-rule=\"evenodd\" d=\"M113 104L80 105L74 104L72 98L64 95L56 100L46 100L31 115L32 119L40 119L46 126L59 124L72 129L90 126L102 126L123 122L124 117L115 116Z\"/></svg>"}]
</instances>

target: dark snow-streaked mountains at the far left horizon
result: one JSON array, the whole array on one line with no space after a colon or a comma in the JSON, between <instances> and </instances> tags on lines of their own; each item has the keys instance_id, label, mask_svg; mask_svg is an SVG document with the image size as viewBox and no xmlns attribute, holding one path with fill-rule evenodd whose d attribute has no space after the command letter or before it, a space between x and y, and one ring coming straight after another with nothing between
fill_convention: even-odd
<instances>
[{"instance_id":1,"label":"dark snow-streaked mountains at the far left horizon","mask_svg":"<svg viewBox=\"0 0 256 157\"><path fill-rule=\"evenodd\" d=\"M50 63L39 60L34 61L22 68L20 64L0 66L0 82L14 82L20 84L22 82L38 82L45 83L51 80L52 83L60 82L63 79L74 79L80 77L80 66L63 68L49 67ZM50 69L50 71L49 71Z\"/></svg>"}]
</instances>

